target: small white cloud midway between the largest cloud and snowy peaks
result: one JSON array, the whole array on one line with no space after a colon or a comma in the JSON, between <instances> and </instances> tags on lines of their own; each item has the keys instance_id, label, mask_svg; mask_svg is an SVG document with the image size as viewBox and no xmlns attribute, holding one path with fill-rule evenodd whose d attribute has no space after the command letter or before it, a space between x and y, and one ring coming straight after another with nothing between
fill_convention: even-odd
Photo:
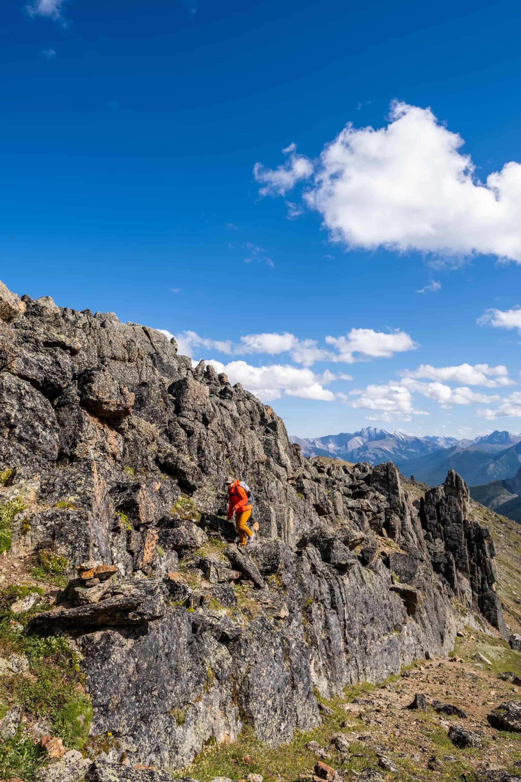
<instances>
[{"instance_id":1,"label":"small white cloud midway between the largest cloud and snowy peaks","mask_svg":"<svg viewBox=\"0 0 521 782\"><path fill-rule=\"evenodd\" d=\"M399 329L387 333L375 332L373 328L351 328L347 337L327 336L326 342L338 351L331 361L344 361L346 364L360 361L360 357L391 358L394 353L404 353L418 347L409 334ZM355 357L354 353L359 355Z\"/></svg>"}]
</instances>

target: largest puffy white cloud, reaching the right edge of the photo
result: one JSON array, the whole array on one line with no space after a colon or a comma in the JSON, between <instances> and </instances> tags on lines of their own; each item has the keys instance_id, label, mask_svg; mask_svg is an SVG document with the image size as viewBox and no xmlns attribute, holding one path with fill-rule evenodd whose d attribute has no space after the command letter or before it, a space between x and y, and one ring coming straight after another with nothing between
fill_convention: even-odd
<instances>
[{"instance_id":1,"label":"largest puffy white cloud, reaching the right edge of the photo","mask_svg":"<svg viewBox=\"0 0 521 782\"><path fill-rule=\"evenodd\" d=\"M430 109L394 102L387 127L348 124L314 166L292 152L275 170L256 163L254 174L262 195L285 195L314 168L305 203L348 248L521 263L521 165L505 163L481 183L462 145Z\"/></svg>"}]
</instances>

